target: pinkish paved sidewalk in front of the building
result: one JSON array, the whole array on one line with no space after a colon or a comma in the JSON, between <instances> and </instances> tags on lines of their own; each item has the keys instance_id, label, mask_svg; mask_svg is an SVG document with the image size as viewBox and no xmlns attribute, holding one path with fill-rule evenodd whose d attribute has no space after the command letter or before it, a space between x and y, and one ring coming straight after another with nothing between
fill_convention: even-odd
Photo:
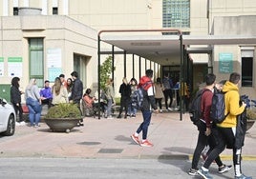
<instances>
[{"instance_id":1,"label":"pinkish paved sidewalk in front of the building","mask_svg":"<svg viewBox=\"0 0 256 179\"><path fill-rule=\"evenodd\" d=\"M139 127L141 113L132 119L84 118L84 127L70 133L51 132L45 123L39 128L16 127L11 137L0 137L0 157L83 157L83 158L158 158L191 159L198 131L189 115L153 114L148 139L153 148L139 147L130 135ZM140 134L141 138L141 134ZM243 160L256 160L256 126L248 130ZM230 160L225 149L222 158Z\"/></svg>"}]
</instances>

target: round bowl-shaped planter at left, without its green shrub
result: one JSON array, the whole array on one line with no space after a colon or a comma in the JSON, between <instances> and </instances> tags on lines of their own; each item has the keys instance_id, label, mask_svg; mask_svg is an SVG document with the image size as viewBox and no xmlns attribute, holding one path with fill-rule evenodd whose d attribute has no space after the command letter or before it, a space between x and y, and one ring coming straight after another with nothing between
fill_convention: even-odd
<instances>
[{"instance_id":1,"label":"round bowl-shaped planter at left, without its green shrub","mask_svg":"<svg viewBox=\"0 0 256 179\"><path fill-rule=\"evenodd\" d=\"M81 118L54 118L49 119L45 118L45 123L49 126L50 129L53 131L59 131L59 132L70 132L71 129L77 127L77 124Z\"/></svg>"}]
</instances>

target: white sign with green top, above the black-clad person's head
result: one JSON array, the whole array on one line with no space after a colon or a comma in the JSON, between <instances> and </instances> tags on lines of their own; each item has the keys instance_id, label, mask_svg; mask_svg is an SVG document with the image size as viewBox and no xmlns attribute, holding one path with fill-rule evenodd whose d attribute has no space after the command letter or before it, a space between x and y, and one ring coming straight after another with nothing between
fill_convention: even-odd
<instances>
[{"instance_id":1,"label":"white sign with green top, above the black-clad person's head","mask_svg":"<svg viewBox=\"0 0 256 179\"><path fill-rule=\"evenodd\" d=\"M8 75L22 77L22 57L8 57Z\"/></svg>"}]
</instances>

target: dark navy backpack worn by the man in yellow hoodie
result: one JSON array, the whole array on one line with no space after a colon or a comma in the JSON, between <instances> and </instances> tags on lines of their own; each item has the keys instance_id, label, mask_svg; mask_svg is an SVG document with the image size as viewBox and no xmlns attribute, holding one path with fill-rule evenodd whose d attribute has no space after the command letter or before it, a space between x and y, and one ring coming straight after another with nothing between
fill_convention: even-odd
<instances>
[{"instance_id":1,"label":"dark navy backpack worn by the man in yellow hoodie","mask_svg":"<svg viewBox=\"0 0 256 179\"><path fill-rule=\"evenodd\" d=\"M224 92L215 89L212 96L212 104L210 110L210 118L214 123L220 124L224 121L225 117L229 114L228 112L226 115L224 115L224 109Z\"/></svg>"}]
</instances>

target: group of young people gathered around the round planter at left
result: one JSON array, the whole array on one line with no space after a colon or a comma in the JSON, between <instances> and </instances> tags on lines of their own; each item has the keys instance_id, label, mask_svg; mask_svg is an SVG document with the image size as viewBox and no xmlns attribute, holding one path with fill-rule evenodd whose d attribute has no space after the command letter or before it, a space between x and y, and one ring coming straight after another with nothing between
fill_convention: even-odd
<instances>
[{"instance_id":1,"label":"group of young people gathered around the round planter at left","mask_svg":"<svg viewBox=\"0 0 256 179\"><path fill-rule=\"evenodd\" d=\"M65 80L65 75L60 74L54 79L53 87L50 87L50 81L45 80L45 86L39 89L36 85L36 79L32 78L25 91L19 89L20 78L11 79L11 104L19 116L19 124L25 124L23 119L23 108L21 105L21 95L25 94L26 106L29 109L29 119L31 127L39 127L39 121L42 111L42 105L48 105L51 108L60 103L75 103L80 109L80 100L83 95L83 84L78 78L78 73L73 71L71 78ZM82 126L82 122L80 123Z\"/></svg>"}]
</instances>

